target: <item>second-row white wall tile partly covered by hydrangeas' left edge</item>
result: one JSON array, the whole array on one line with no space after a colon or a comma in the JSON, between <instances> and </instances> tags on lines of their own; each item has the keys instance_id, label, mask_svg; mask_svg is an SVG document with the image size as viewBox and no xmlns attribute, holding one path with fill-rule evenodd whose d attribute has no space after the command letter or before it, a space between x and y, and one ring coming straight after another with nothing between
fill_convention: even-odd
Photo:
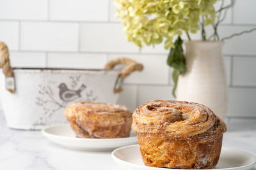
<instances>
[{"instance_id":1,"label":"second-row white wall tile partly covered by hydrangeas' left edge","mask_svg":"<svg viewBox=\"0 0 256 170\"><path fill-rule=\"evenodd\" d=\"M81 51L138 52L139 48L125 39L121 24L81 24Z\"/></svg>"}]
</instances>

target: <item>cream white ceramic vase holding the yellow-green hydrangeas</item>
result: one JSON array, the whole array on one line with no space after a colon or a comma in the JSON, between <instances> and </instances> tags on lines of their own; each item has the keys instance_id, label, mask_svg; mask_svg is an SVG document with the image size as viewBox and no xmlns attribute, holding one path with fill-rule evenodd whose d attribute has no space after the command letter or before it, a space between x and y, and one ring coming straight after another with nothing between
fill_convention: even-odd
<instances>
[{"instance_id":1,"label":"cream white ceramic vase holding the yellow-green hydrangeas","mask_svg":"<svg viewBox=\"0 0 256 170\"><path fill-rule=\"evenodd\" d=\"M186 41L186 73L179 76L177 100L208 106L220 118L227 111L227 80L221 41Z\"/></svg>"}]
</instances>

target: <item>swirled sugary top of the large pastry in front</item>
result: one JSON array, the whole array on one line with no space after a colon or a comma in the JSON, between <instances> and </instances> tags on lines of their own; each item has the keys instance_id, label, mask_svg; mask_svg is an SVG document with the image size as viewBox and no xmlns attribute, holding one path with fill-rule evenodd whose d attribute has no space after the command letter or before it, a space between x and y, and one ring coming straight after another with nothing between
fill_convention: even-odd
<instances>
[{"instance_id":1,"label":"swirled sugary top of the large pastry in front","mask_svg":"<svg viewBox=\"0 0 256 170\"><path fill-rule=\"evenodd\" d=\"M208 140L220 137L225 123L206 106L183 101L148 101L133 113L132 129L162 137L192 137Z\"/></svg>"}]
</instances>

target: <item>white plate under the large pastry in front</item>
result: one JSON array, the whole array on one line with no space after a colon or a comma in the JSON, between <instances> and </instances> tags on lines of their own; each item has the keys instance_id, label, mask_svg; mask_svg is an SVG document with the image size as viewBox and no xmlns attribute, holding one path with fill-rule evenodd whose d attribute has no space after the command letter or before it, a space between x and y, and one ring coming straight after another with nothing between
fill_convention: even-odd
<instances>
[{"instance_id":1,"label":"white plate under the large pastry in front","mask_svg":"<svg viewBox=\"0 0 256 170\"><path fill-rule=\"evenodd\" d=\"M161 167L145 166L140 155L139 145L124 146L112 152L112 158L124 169L132 170L156 170L163 169ZM241 150L232 148L221 149L220 160L214 169L231 170L250 169L255 165L256 157L252 153L247 153ZM175 169L177 170L177 169Z\"/></svg>"}]
</instances>

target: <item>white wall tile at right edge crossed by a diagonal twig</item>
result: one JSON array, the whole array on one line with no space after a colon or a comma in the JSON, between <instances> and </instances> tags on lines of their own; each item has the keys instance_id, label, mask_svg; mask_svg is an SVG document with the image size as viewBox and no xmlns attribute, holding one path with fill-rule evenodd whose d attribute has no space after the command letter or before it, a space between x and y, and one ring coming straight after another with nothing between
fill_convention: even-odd
<instances>
[{"instance_id":1,"label":"white wall tile at right edge crossed by a diagonal twig","mask_svg":"<svg viewBox=\"0 0 256 170\"><path fill-rule=\"evenodd\" d=\"M221 25L219 32L220 37L227 37L231 34L253 29L254 27L248 26L235 26L235 25ZM243 34L241 36L234 36L231 39L225 40L223 45L224 54L235 55L253 55L256 53L256 31Z\"/></svg>"}]
</instances>

